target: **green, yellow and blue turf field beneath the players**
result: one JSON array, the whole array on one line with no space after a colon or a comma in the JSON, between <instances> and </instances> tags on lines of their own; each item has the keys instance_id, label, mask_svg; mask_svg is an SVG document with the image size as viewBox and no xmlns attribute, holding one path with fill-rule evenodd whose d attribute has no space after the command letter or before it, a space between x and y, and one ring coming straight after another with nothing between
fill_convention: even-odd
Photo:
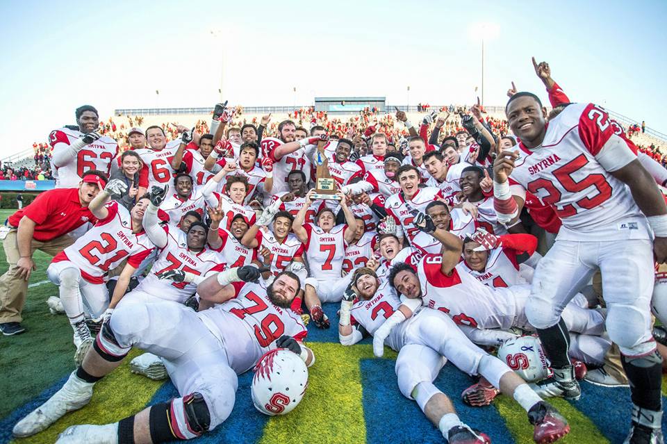
<instances>
[{"instance_id":1,"label":"green, yellow and blue turf field beneath the players","mask_svg":"<svg viewBox=\"0 0 667 444\"><path fill-rule=\"evenodd\" d=\"M0 211L4 220L12 211ZM47 281L50 258L38 252L24 310L23 335L0 336L0 444L12 441L11 428L47 399L74 370L72 329L63 315L51 315L45 304L57 295ZM0 249L0 273L7 264ZM336 325L336 306L325 311ZM342 347L334 328L322 331L308 326L308 345L317 362L310 369L308 392L293 413L268 418L255 411L249 394L252 375L239 378L232 416L215 431L198 441L204 443L438 443L443 438L418 406L400 395L394 373L395 353L384 359L372 356L368 340ZM133 351L132 356L138 354ZM31 438L15 443L52 443L65 427L81 423L120 420L154 402L177 396L172 384L150 381L129 372L126 360L100 381L88 406L65 416L55 425ZM493 406L473 409L460 400L463 388L473 380L447 364L436 385L452 397L463 420L491 436L494 444L532 442L532 428L525 412L507 397ZM584 396L577 402L554 400L568 418L572 433L563 443L598 444L623 441L629 418L629 392L625 388L605 389L582 383Z\"/></svg>"}]
</instances>

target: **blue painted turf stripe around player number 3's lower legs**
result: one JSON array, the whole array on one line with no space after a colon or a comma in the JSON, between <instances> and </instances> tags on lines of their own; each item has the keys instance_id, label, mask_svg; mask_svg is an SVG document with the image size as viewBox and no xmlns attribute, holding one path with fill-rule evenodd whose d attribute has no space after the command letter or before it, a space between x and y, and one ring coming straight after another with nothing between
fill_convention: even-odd
<instances>
[{"instance_id":1,"label":"blue painted turf stripe around player number 3's lower legs","mask_svg":"<svg viewBox=\"0 0 667 444\"><path fill-rule=\"evenodd\" d=\"M401 395L394 365L393 359L361 360L367 443L442 443L442 434L427 420L417 403ZM473 382L448 363L435 384L450 396L463 422L484 431L494 444L513 444L511 433L495 407L470 407L461 401L461 391Z\"/></svg>"}]
</instances>

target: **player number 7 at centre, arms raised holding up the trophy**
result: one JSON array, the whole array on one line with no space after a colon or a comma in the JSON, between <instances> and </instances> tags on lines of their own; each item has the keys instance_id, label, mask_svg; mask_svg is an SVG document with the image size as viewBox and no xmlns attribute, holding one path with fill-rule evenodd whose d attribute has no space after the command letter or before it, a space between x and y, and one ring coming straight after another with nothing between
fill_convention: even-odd
<instances>
[{"instance_id":1,"label":"player number 7 at centre, arms raised holding up the trophy","mask_svg":"<svg viewBox=\"0 0 667 444\"><path fill-rule=\"evenodd\" d=\"M315 190L308 191L306 204L294 218L292 230L306 246L309 278L305 282L304 302L315 325L329 328L327 315L322 311L322 302L338 302L352 276L341 279L345 248L356 233L356 220L347 207L343 192L338 192L341 211L347 225L335 225L336 215L329 208L322 208L315 220L317 224L305 222L306 212L313 202Z\"/></svg>"}]
</instances>

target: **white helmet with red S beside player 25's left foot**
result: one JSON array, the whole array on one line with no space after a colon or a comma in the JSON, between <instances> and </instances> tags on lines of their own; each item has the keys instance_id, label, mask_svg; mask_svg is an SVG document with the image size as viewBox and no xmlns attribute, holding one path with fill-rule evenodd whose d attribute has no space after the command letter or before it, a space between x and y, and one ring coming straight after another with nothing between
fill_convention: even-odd
<instances>
[{"instance_id":1,"label":"white helmet with red S beside player 25's left foot","mask_svg":"<svg viewBox=\"0 0 667 444\"><path fill-rule=\"evenodd\" d=\"M551 363L535 336L506 340L498 349L498 359L507 363L526 382L541 381L549 375Z\"/></svg>"}]
</instances>

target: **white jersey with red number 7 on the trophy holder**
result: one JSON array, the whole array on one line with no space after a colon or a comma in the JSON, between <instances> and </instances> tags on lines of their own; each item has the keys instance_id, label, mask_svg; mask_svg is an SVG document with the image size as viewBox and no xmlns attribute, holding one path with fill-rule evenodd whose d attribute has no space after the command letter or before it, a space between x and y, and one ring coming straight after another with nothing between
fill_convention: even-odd
<instances>
[{"instance_id":1,"label":"white jersey with red number 7 on the trophy holder","mask_svg":"<svg viewBox=\"0 0 667 444\"><path fill-rule=\"evenodd\" d=\"M347 225L336 225L329 233L325 233L315 224L304 224L308 233L306 257L310 276L316 279L339 279L343 274L345 259L345 231Z\"/></svg>"}]
</instances>

